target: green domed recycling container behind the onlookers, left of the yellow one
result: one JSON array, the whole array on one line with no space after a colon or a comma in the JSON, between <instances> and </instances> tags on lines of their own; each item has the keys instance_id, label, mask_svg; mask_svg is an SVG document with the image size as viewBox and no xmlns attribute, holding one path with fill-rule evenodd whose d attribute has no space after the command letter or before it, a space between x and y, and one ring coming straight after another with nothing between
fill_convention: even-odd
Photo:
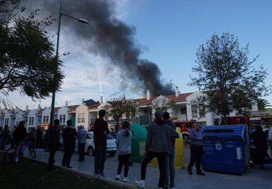
<instances>
[{"instance_id":1,"label":"green domed recycling container behind the onlookers, left of the yellow one","mask_svg":"<svg viewBox=\"0 0 272 189\"><path fill-rule=\"evenodd\" d=\"M131 161L140 163L146 153L146 127L142 125L131 125L131 130L133 131L133 141L132 141L132 151L131 151Z\"/></svg>"}]
</instances>

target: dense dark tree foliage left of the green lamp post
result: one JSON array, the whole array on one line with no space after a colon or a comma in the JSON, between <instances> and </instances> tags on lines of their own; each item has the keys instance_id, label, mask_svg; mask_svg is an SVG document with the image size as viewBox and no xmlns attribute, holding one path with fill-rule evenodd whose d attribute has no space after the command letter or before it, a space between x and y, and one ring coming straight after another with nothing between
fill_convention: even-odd
<instances>
[{"instance_id":1,"label":"dense dark tree foliage left of the green lamp post","mask_svg":"<svg viewBox=\"0 0 272 189\"><path fill-rule=\"evenodd\" d=\"M0 92L18 91L32 99L44 99L59 90L64 77L45 30L55 19L37 20L39 10L26 18L16 16L18 8L19 1L0 0Z\"/></svg>"}]
</instances>

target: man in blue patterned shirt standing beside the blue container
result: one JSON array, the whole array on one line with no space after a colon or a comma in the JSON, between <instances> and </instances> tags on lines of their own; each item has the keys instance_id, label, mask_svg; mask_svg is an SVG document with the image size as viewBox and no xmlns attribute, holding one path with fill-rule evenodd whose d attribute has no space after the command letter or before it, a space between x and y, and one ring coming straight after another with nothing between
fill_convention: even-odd
<instances>
[{"instance_id":1,"label":"man in blue patterned shirt standing beside the blue container","mask_svg":"<svg viewBox=\"0 0 272 189\"><path fill-rule=\"evenodd\" d=\"M190 129L190 164L188 165L188 173L192 175L192 166L196 164L196 174L205 175L201 171L201 157L202 157L202 146L203 146L203 132L201 131L201 124L196 123L193 129Z\"/></svg>"}]
</instances>

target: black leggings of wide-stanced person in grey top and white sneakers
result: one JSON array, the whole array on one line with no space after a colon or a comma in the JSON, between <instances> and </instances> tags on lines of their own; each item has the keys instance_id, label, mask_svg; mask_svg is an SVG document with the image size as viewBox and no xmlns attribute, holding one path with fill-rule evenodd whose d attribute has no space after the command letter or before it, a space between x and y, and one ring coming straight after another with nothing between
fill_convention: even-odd
<instances>
[{"instance_id":1,"label":"black leggings of wide-stanced person in grey top and white sneakers","mask_svg":"<svg viewBox=\"0 0 272 189\"><path fill-rule=\"evenodd\" d=\"M158 188L166 188L164 186L164 180L166 178L166 155L167 153L159 153L148 151L144 156L143 160L141 160L141 179L146 179L146 166L147 164L154 158L157 157L159 164L159 184Z\"/></svg>"}]
</instances>

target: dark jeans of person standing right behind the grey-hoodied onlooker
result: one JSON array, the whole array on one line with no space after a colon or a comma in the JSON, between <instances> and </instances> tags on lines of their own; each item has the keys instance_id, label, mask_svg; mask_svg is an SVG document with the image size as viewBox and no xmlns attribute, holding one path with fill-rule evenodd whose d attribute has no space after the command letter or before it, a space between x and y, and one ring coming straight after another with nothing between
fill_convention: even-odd
<instances>
[{"instance_id":1,"label":"dark jeans of person standing right behind the grey-hoodied onlooker","mask_svg":"<svg viewBox=\"0 0 272 189\"><path fill-rule=\"evenodd\" d=\"M170 176L170 186L174 188L174 176L175 176L175 168L174 168L174 155L176 154L176 149L172 149L172 153L166 156L166 186L169 183Z\"/></svg>"}]
</instances>

